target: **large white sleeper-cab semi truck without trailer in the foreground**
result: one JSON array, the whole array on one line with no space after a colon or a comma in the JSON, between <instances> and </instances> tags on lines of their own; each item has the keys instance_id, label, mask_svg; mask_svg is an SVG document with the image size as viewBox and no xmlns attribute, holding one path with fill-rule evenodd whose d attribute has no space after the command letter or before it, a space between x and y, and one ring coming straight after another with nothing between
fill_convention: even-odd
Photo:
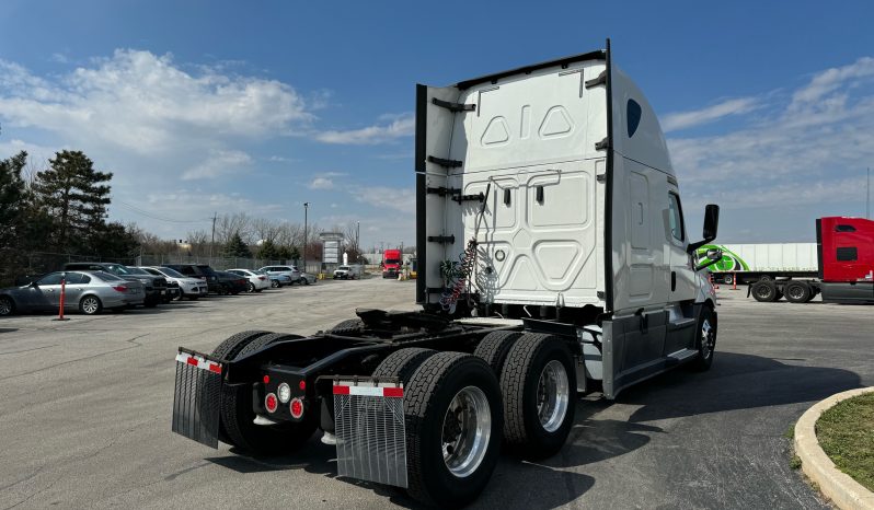
<instances>
[{"instance_id":1,"label":"large white sleeper-cab semi truck without trailer in the foreground","mask_svg":"<svg viewBox=\"0 0 874 510\"><path fill-rule=\"evenodd\" d=\"M173 430L251 454L317 430L341 476L473 500L501 444L563 447L580 394L706 370L716 298L665 139L607 49L416 89L417 312L180 348Z\"/></svg>"}]
</instances>

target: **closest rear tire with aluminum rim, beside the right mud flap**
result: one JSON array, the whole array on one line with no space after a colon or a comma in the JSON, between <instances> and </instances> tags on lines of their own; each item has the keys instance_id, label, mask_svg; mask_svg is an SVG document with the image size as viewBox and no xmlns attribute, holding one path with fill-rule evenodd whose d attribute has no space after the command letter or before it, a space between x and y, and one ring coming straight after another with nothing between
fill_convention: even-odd
<instances>
[{"instance_id":1,"label":"closest rear tire with aluminum rim, beside the right mud flap","mask_svg":"<svg viewBox=\"0 0 874 510\"><path fill-rule=\"evenodd\" d=\"M481 359L439 352L404 390L407 492L438 507L461 507L482 492L497 464L501 389Z\"/></svg>"}]
</instances>

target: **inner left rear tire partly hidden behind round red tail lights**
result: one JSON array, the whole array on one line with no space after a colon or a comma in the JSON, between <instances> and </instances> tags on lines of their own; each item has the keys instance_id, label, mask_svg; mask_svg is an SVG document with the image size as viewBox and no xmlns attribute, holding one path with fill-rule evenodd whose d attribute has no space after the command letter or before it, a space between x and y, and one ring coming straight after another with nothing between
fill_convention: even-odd
<instances>
[{"instance_id":1,"label":"inner left rear tire partly hidden behind round red tail lights","mask_svg":"<svg viewBox=\"0 0 874 510\"><path fill-rule=\"evenodd\" d=\"M258 336L243 347L237 357L246 356L269 344L297 335L272 333ZM255 456L273 456L290 453L299 449L318 427L319 414L310 410L303 421L283 421L277 425L255 425L252 408L252 384L222 386L221 424L230 444Z\"/></svg>"}]
</instances>

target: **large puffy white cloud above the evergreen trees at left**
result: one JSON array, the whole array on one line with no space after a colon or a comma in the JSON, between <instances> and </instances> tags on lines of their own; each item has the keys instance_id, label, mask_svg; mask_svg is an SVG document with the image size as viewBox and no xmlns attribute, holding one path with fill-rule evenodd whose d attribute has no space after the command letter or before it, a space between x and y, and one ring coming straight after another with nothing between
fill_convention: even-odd
<instances>
[{"instance_id":1,"label":"large puffy white cloud above the evergreen trees at left","mask_svg":"<svg viewBox=\"0 0 874 510\"><path fill-rule=\"evenodd\" d=\"M199 69L193 74L170 55L130 49L53 80L0 61L0 116L74 144L102 142L139 153L173 150L180 138L302 132L313 119L287 84Z\"/></svg>"}]
</instances>

